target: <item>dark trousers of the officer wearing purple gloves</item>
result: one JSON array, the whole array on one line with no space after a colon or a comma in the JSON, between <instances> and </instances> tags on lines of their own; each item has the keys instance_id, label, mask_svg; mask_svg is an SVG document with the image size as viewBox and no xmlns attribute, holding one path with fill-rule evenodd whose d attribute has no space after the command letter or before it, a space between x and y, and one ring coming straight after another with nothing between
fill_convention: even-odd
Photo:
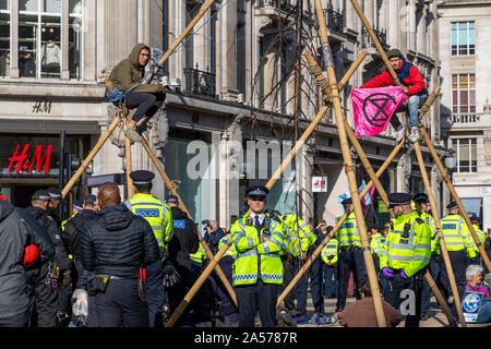
<instances>
[{"instance_id":1,"label":"dark trousers of the officer wearing purple gloves","mask_svg":"<svg viewBox=\"0 0 491 349\"><path fill-rule=\"evenodd\" d=\"M397 310L405 302L405 306L402 310L403 315L406 315L405 327L419 327L421 292L422 276L412 276L404 279L400 274L395 274L393 278L387 279L387 288L383 293L384 300Z\"/></svg>"}]
</instances>

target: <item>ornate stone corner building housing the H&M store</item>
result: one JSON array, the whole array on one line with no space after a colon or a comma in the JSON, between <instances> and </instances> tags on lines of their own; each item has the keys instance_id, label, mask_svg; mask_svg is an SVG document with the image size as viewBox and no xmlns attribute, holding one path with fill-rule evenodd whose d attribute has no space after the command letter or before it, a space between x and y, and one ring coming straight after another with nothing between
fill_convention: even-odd
<instances>
[{"instance_id":1,"label":"ornate stone corner building housing the H&M store","mask_svg":"<svg viewBox=\"0 0 491 349\"><path fill-rule=\"evenodd\" d=\"M435 3L364 0L360 4L384 47L398 47L423 73L430 92L439 85ZM58 183L62 130L69 152L86 157L115 116L115 107L105 101L103 84L111 69L142 41L152 47L153 59L158 61L201 5L197 0L0 1L0 98L5 106L0 110L2 192L21 201L27 185ZM343 93L346 117L352 124L350 89L374 76L383 63L349 1L323 1L323 8L338 80L361 50L368 52ZM149 143L196 222L216 218L229 227L246 209L244 189L267 182L322 107L306 63L300 61L301 69L296 71L297 43L302 51L314 55L320 47L311 1L303 1L302 10L304 29L298 36L299 31L292 29L300 25L297 1L216 1L154 82L168 91L164 107L151 121ZM298 212L306 220L324 218L328 224L342 214L339 195L349 188L334 119L330 111L286 176L277 180L268 207ZM433 106L424 124L443 154L440 104ZM375 169L396 144L391 127L360 142ZM47 173L40 165L16 172L19 161L9 159L22 155L26 144L33 164L43 163L36 158L38 145L41 159L52 146ZM422 151L441 206L441 177L428 148L422 146ZM131 152L133 169L156 171L140 144ZM117 129L94 158L88 177L124 169L124 143ZM327 178L324 192L313 190L312 179L319 177ZM387 191L424 191L410 146L381 180ZM82 179L73 195L89 190L85 184ZM163 197L166 192L157 176L154 194ZM380 212L376 217L386 218L376 197L373 202Z\"/></svg>"}]
</instances>

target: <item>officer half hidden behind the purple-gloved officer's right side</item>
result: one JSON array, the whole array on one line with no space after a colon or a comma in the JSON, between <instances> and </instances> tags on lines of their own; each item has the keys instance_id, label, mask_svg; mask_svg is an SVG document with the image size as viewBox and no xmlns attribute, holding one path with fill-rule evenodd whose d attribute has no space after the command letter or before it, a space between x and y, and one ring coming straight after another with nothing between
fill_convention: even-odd
<instances>
[{"instance_id":1,"label":"officer half hidden behind the purple-gloved officer's right side","mask_svg":"<svg viewBox=\"0 0 491 349\"><path fill-rule=\"evenodd\" d=\"M423 219L431 229L431 258L430 264L428 265L430 275L432 279L440 284L440 243L439 237L436 233L436 226L434 225L433 216L431 215L428 205L428 195L426 193L418 193L412 197L415 202L416 212L419 214L419 217ZM423 279L423 288L422 288L422 299L421 299L421 320L428 320L428 309L430 308L430 299L431 299L431 288L428 285L427 279Z\"/></svg>"}]
</instances>

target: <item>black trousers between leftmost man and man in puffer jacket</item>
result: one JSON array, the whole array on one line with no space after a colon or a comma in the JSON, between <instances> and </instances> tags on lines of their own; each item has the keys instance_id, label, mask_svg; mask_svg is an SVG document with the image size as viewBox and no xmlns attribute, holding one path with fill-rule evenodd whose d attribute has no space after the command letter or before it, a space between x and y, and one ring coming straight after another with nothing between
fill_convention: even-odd
<instances>
[{"instance_id":1,"label":"black trousers between leftmost man and man in puffer jacket","mask_svg":"<svg viewBox=\"0 0 491 349\"><path fill-rule=\"evenodd\" d=\"M29 296L29 327L55 327L57 325L58 292L46 284L48 263L26 270Z\"/></svg>"}]
</instances>

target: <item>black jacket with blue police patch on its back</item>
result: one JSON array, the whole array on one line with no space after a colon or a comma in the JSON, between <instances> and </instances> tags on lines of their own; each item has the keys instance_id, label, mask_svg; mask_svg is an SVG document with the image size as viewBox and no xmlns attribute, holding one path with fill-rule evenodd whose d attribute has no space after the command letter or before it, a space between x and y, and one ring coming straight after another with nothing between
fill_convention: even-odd
<instances>
[{"instance_id":1,"label":"black jacket with blue police patch on its back","mask_svg":"<svg viewBox=\"0 0 491 349\"><path fill-rule=\"evenodd\" d=\"M169 261L182 275L182 268L191 273L190 254L200 248L196 226L188 215L178 207L170 207L173 220L173 237L169 241Z\"/></svg>"}]
</instances>

